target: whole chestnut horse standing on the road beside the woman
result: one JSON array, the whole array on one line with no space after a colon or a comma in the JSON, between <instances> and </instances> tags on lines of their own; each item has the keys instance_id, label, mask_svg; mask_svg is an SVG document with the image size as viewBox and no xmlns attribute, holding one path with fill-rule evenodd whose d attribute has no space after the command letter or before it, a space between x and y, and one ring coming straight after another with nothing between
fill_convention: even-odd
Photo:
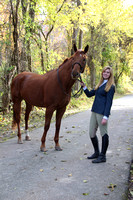
<instances>
[{"instance_id":1,"label":"whole chestnut horse standing on the road beside the woman","mask_svg":"<svg viewBox=\"0 0 133 200\"><path fill-rule=\"evenodd\" d=\"M56 130L55 130L55 149L62 150L59 145L59 130L61 119L71 98L71 88L84 72L86 65L86 53L88 45L84 50L77 50L74 45L75 53L64 60L58 69L51 70L44 75L31 72L18 74L11 84L11 95L13 101L13 127L17 124L18 143L22 143L20 133L20 112L21 101L26 102L25 130L28 130L28 119L32 106L45 107L45 126L41 139L40 150L45 152L45 140L53 112L56 110ZM29 134L25 137L30 140Z\"/></svg>"}]
</instances>

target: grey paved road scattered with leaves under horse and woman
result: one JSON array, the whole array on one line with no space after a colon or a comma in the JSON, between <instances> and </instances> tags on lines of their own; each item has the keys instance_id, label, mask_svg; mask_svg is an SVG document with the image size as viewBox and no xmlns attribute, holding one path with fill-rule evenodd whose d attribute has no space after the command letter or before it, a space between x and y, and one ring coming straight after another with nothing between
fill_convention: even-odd
<instances>
[{"instance_id":1,"label":"grey paved road scattered with leaves under horse and woman","mask_svg":"<svg viewBox=\"0 0 133 200\"><path fill-rule=\"evenodd\" d=\"M133 95L114 100L110 116L107 162L92 164L88 136L90 110L63 119L60 144L54 150L51 124L46 154L39 151L43 128L32 141L17 138L0 144L0 200L122 200L133 148ZM24 137L24 135L23 135ZM100 133L98 137L101 142ZM116 185L111 191L108 186Z\"/></svg>"}]
</instances>

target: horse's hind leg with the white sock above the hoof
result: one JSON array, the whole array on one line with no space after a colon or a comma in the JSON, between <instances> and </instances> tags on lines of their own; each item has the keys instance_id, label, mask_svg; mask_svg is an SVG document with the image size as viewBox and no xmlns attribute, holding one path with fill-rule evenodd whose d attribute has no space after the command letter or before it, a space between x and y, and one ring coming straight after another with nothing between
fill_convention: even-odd
<instances>
[{"instance_id":1,"label":"horse's hind leg with the white sock above the hoof","mask_svg":"<svg viewBox=\"0 0 133 200\"><path fill-rule=\"evenodd\" d=\"M25 133L26 133L25 140L26 141L31 140L31 138L29 136L29 132L28 132L28 120L29 120L29 114L30 114L31 110L32 110L32 105L30 105L26 102L26 111L25 111Z\"/></svg>"}]
</instances>

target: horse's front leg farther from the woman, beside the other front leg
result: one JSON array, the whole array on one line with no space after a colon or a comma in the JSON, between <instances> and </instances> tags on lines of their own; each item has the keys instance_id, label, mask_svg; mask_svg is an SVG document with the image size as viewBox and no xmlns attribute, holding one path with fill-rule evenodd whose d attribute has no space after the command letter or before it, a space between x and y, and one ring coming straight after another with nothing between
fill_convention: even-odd
<instances>
[{"instance_id":1,"label":"horse's front leg farther from the woman, beside the other front leg","mask_svg":"<svg viewBox=\"0 0 133 200\"><path fill-rule=\"evenodd\" d=\"M43 152L47 151L46 147L45 147L45 141L46 141L46 136L47 136L48 129L50 127L50 121L51 121L53 112L54 112L53 108L46 108L44 133L43 133L43 136L42 136L42 139L41 139L42 144L41 144L41 147L40 147L40 150L43 151Z\"/></svg>"}]
</instances>

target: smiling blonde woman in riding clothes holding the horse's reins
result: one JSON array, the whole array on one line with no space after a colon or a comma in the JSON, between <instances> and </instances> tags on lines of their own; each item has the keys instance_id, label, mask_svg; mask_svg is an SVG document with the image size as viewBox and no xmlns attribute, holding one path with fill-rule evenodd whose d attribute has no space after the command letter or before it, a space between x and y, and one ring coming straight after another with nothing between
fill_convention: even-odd
<instances>
[{"instance_id":1,"label":"smiling blonde woman in riding clothes holding the horse's reins","mask_svg":"<svg viewBox=\"0 0 133 200\"><path fill-rule=\"evenodd\" d=\"M84 83L81 83L81 86L83 86L87 97L95 96L89 126L89 135L94 147L94 154L87 158L96 158L92 163L106 162L106 151L109 145L108 118L115 93L112 68L109 66L104 67L101 73L101 79L95 89L89 91ZM96 136L98 127L102 136L101 152L99 151L98 138Z\"/></svg>"}]
</instances>

